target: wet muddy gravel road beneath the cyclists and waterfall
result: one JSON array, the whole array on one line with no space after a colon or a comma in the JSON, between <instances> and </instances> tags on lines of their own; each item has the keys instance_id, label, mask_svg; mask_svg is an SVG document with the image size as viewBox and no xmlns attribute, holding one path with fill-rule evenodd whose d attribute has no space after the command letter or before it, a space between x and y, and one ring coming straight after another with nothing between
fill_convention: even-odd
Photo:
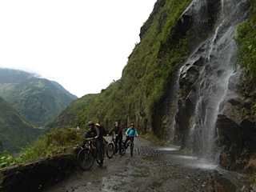
<instances>
[{"instance_id":1,"label":"wet muddy gravel road beneath the cyclists and waterfall","mask_svg":"<svg viewBox=\"0 0 256 192\"><path fill-rule=\"evenodd\" d=\"M76 170L46 191L247 191L243 175L226 172L178 147L162 147L134 138L134 156L130 157L129 150L110 159L105 153L102 167L94 162L91 170Z\"/></svg>"}]
</instances>

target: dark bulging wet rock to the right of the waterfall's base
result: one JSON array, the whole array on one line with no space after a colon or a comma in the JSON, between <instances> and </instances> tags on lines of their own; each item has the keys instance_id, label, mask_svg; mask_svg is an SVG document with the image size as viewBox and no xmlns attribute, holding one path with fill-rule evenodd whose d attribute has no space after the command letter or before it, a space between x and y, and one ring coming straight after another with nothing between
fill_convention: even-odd
<instances>
[{"instance_id":1,"label":"dark bulging wet rock to the right of the waterfall's base","mask_svg":"<svg viewBox=\"0 0 256 192\"><path fill-rule=\"evenodd\" d=\"M216 126L220 146L224 146L221 165L230 170L250 173L256 167L252 155L256 151L256 121L250 109L255 101L243 91L243 73L241 71L230 78L229 92L220 106Z\"/></svg>"}]
</instances>

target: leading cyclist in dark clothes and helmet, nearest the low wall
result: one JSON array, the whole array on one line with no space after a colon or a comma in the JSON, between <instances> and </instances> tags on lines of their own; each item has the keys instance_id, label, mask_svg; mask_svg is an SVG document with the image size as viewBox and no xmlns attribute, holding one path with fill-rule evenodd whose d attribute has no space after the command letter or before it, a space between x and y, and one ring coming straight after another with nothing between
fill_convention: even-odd
<instances>
[{"instance_id":1,"label":"leading cyclist in dark clothes and helmet, nearest the low wall","mask_svg":"<svg viewBox=\"0 0 256 192\"><path fill-rule=\"evenodd\" d=\"M94 122L91 122L91 121L88 122L88 126L89 126L89 130L86 131L83 138L95 138L96 139L98 160L100 160L100 163L98 166L102 166L103 165L103 155L104 155L104 154L102 154L102 150L100 150L100 149L102 149L102 141L103 141L102 134L98 130L98 127L94 126ZM82 146L84 147L86 144L86 140L83 139L82 142L83 142Z\"/></svg>"}]
</instances>

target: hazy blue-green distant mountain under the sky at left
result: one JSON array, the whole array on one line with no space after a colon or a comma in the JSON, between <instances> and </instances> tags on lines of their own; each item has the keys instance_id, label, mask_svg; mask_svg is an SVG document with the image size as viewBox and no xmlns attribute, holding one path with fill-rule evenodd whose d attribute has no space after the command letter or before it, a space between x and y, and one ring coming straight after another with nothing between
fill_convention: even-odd
<instances>
[{"instance_id":1,"label":"hazy blue-green distant mountain under the sky at left","mask_svg":"<svg viewBox=\"0 0 256 192\"><path fill-rule=\"evenodd\" d=\"M10 69L0 69L0 97L34 126L46 126L77 98L58 82Z\"/></svg>"}]
</instances>

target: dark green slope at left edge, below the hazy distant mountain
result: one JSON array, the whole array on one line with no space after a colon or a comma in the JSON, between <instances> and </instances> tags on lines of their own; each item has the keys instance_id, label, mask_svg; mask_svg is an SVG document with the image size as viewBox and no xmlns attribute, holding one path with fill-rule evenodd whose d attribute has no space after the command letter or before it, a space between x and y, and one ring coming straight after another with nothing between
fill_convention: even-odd
<instances>
[{"instance_id":1,"label":"dark green slope at left edge, below the hazy distant mountain","mask_svg":"<svg viewBox=\"0 0 256 192\"><path fill-rule=\"evenodd\" d=\"M3 150L18 152L41 133L42 130L34 129L10 103L0 98L0 154Z\"/></svg>"}]
</instances>

